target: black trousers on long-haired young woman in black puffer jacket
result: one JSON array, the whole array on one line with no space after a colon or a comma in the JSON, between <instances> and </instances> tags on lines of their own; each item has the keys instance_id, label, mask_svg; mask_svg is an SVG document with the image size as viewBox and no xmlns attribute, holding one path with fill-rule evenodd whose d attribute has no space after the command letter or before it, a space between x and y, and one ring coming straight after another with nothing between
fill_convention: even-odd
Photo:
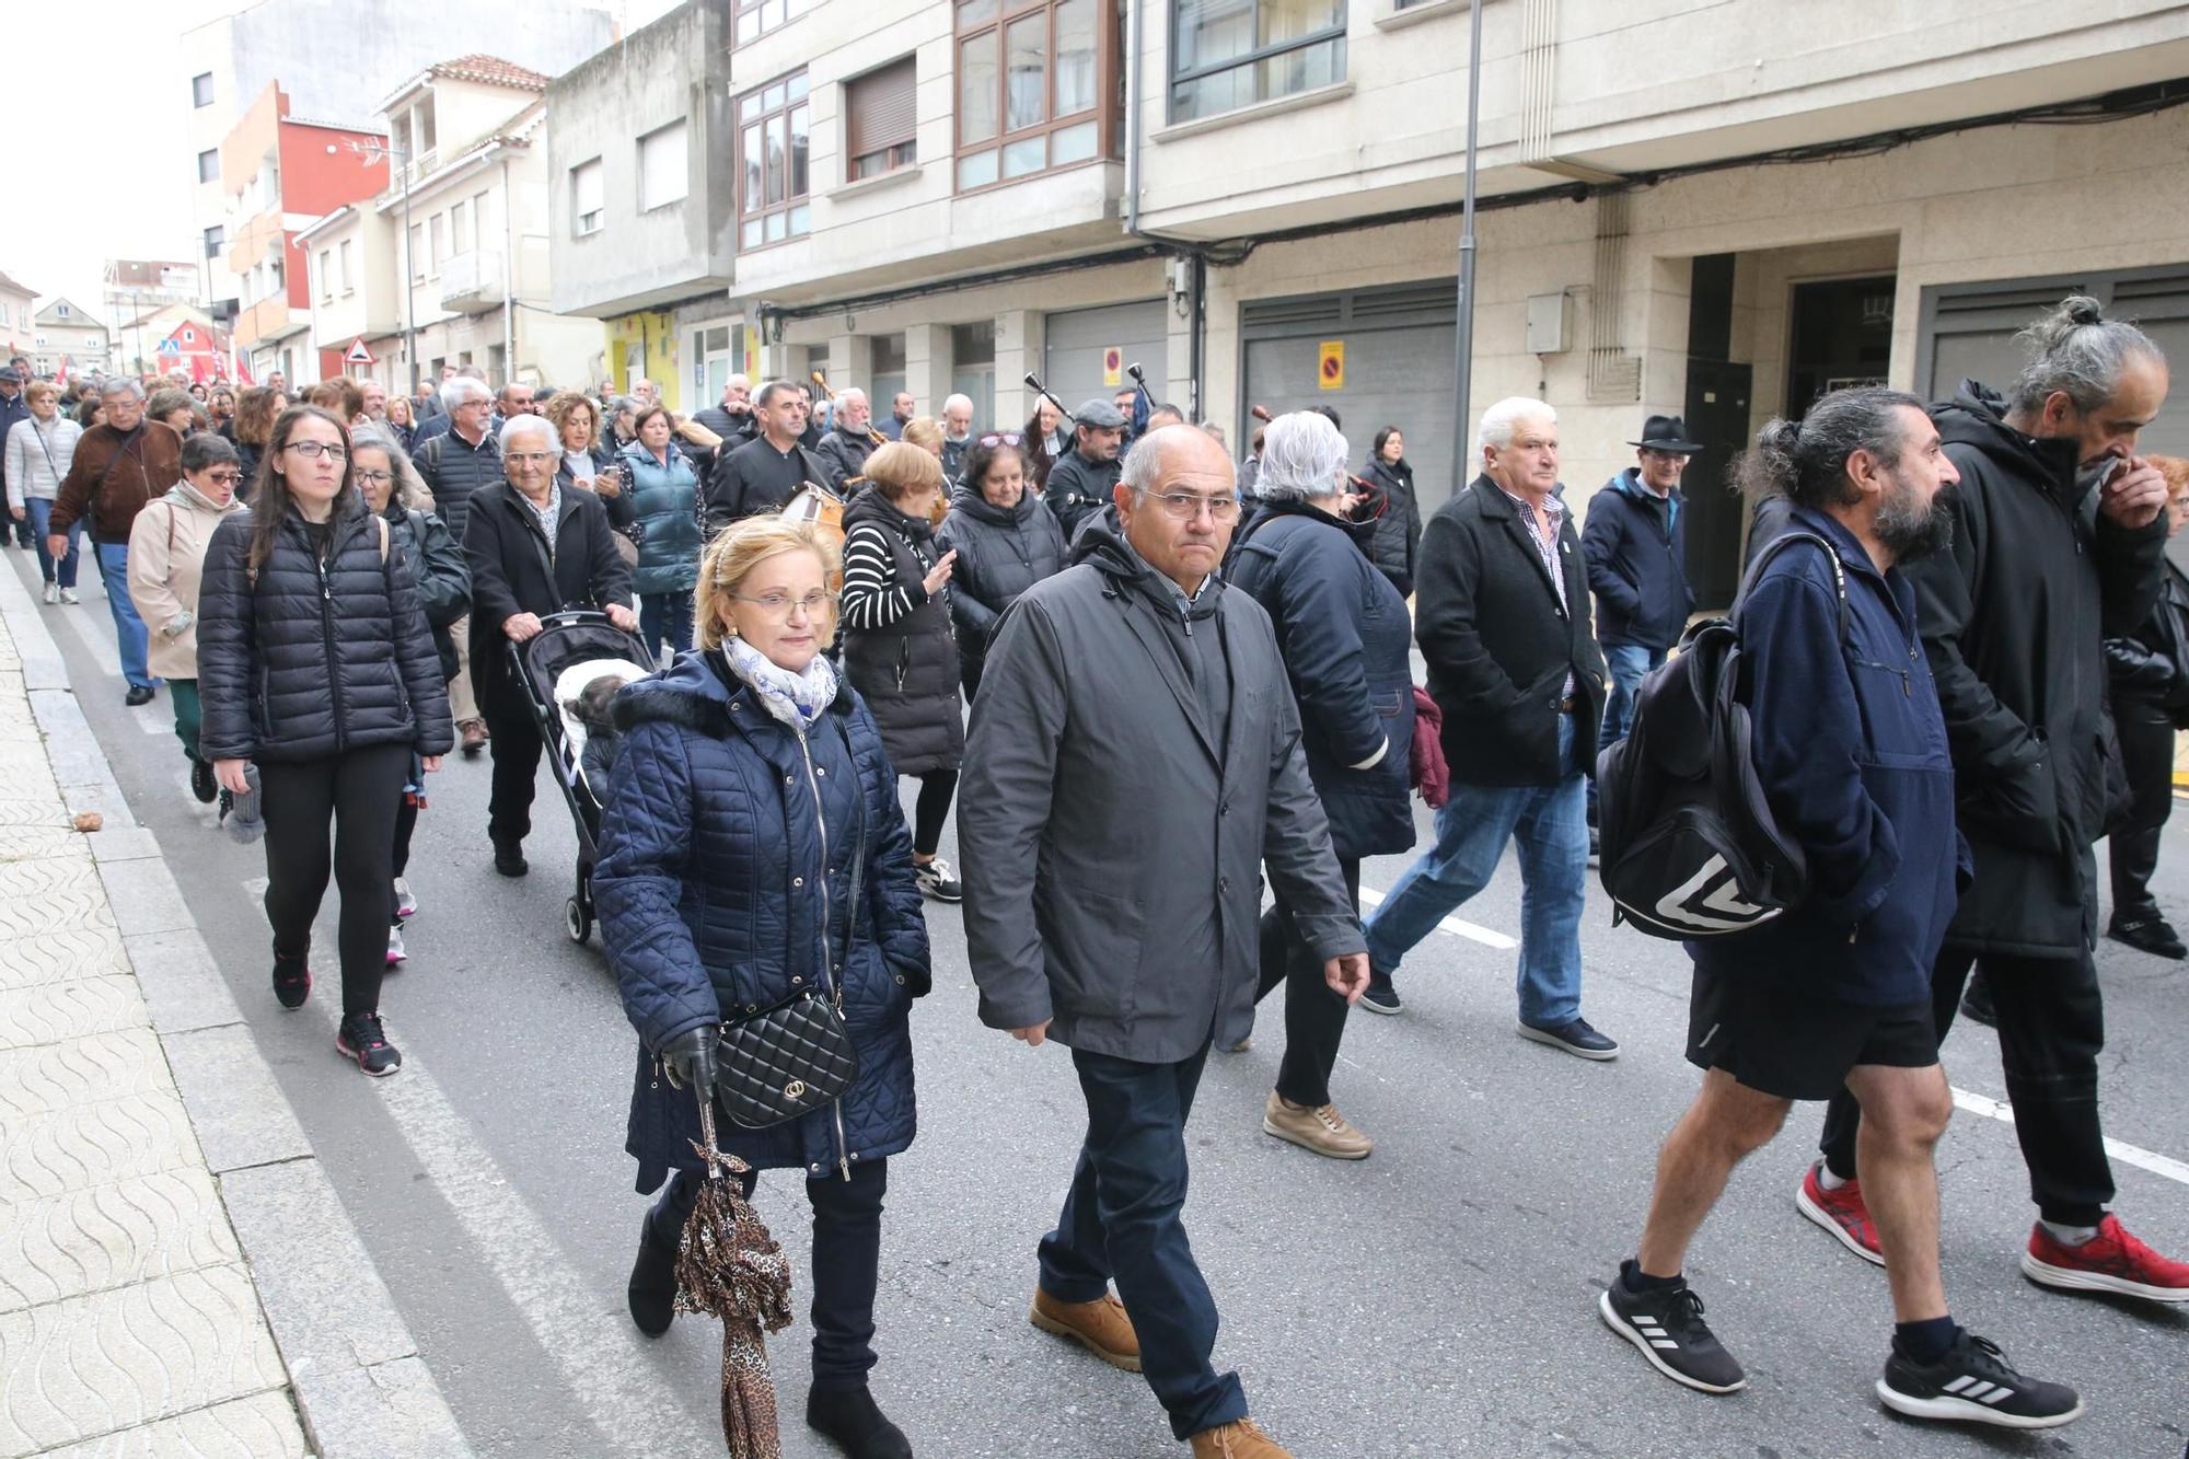
<instances>
[{"instance_id":1,"label":"black trousers on long-haired young woman in black puffer jacket","mask_svg":"<svg viewBox=\"0 0 2189 1459\"><path fill-rule=\"evenodd\" d=\"M328 872L341 896L341 1012L379 1012L387 970L387 883L409 745L374 745L320 760L258 765L267 822L267 922L274 951L311 951ZM328 852L328 824L335 830Z\"/></svg>"}]
</instances>

